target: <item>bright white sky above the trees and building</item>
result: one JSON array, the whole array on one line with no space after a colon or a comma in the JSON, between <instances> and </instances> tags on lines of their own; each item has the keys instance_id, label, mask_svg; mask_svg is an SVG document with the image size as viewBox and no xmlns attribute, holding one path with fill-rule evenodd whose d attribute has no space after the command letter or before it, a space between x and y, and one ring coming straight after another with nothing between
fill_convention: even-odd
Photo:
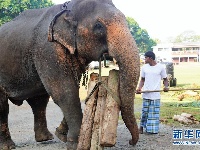
<instances>
[{"instance_id":1,"label":"bright white sky above the trees and building","mask_svg":"<svg viewBox=\"0 0 200 150\"><path fill-rule=\"evenodd\" d=\"M67 0L52 0L62 4ZM184 31L200 34L200 0L112 0L132 17L152 39L166 41Z\"/></svg>"}]
</instances>

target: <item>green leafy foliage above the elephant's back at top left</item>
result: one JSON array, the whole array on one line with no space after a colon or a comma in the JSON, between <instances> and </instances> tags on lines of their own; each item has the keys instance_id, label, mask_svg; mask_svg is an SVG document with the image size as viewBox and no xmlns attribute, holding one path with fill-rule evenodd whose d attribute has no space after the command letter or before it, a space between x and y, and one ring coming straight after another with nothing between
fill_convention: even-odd
<instances>
[{"instance_id":1,"label":"green leafy foliage above the elephant's back at top left","mask_svg":"<svg viewBox=\"0 0 200 150\"><path fill-rule=\"evenodd\" d=\"M0 0L0 25L12 20L24 10L52 5L51 0Z\"/></svg>"}]
</instances>

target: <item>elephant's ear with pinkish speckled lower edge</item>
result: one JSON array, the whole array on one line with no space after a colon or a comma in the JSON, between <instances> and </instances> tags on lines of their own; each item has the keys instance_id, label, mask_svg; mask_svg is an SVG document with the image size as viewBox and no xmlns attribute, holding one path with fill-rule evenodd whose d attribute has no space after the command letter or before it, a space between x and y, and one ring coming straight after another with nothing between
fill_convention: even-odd
<instances>
[{"instance_id":1,"label":"elephant's ear with pinkish speckled lower edge","mask_svg":"<svg viewBox=\"0 0 200 150\"><path fill-rule=\"evenodd\" d=\"M76 49L76 28L77 21L69 16L68 10L63 10L58 13L49 26L48 41L58 42L66 47L71 54L74 54Z\"/></svg>"}]
</instances>

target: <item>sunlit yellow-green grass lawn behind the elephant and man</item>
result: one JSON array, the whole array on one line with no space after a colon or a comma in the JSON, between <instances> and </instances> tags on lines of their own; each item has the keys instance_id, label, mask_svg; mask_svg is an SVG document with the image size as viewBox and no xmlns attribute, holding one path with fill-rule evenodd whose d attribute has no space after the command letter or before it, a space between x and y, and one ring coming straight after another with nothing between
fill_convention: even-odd
<instances>
[{"instance_id":1,"label":"sunlit yellow-green grass lawn behind the elephant and man","mask_svg":"<svg viewBox=\"0 0 200 150\"><path fill-rule=\"evenodd\" d=\"M102 68L102 76L108 76L111 68ZM89 71L90 73L99 73L98 69ZM181 63L174 66L174 77L177 79L176 87L170 87L170 89L187 89L187 88L200 88L200 63ZM173 121L174 115L180 115L181 113L192 114L197 120L200 121L200 99L197 100L195 96L186 95L182 101L179 101L179 96L184 95L185 92L198 91L169 91L161 92L161 117L160 119L169 125L177 125L178 123ZM84 86L80 87L80 99L84 100L87 96L87 89ZM200 97L199 97L200 98ZM142 107L142 98L140 94L135 95L134 101L135 107ZM136 118L140 119L141 112L136 112ZM200 125L199 125L200 126Z\"/></svg>"}]
</instances>

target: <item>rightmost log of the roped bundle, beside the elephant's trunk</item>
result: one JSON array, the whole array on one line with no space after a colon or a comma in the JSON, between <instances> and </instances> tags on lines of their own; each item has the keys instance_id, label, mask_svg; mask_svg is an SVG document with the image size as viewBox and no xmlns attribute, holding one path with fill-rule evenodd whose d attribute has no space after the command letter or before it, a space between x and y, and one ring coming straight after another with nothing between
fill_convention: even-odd
<instances>
[{"instance_id":1,"label":"rightmost log of the roped bundle, beside the elephant's trunk","mask_svg":"<svg viewBox=\"0 0 200 150\"><path fill-rule=\"evenodd\" d=\"M117 70L111 70L108 77L106 107L104 112L103 125L101 130L101 146L111 147L116 143L117 125L120 111L119 97L119 76Z\"/></svg>"}]
</instances>

